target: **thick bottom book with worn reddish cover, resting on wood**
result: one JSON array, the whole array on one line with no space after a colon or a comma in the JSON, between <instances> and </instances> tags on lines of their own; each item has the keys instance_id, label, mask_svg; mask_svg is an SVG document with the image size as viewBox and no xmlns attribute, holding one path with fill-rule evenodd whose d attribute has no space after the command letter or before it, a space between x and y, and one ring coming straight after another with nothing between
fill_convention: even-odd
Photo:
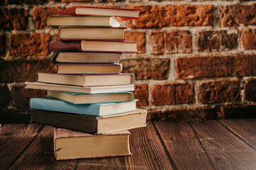
<instances>
[{"instance_id":1,"label":"thick bottom book with worn reddish cover, resting on wood","mask_svg":"<svg viewBox=\"0 0 256 170\"><path fill-rule=\"evenodd\" d=\"M123 130L108 135L53 128L54 153L57 160L130 155L130 132Z\"/></svg>"}]
</instances>

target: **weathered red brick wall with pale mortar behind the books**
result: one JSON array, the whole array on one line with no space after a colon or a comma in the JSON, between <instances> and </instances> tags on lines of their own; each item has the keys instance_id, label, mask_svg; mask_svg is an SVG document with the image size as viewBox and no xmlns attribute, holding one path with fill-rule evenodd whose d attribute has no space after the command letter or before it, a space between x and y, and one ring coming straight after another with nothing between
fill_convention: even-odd
<instances>
[{"instance_id":1,"label":"weathered red brick wall with pale mortar behind the books","mask_svg":"<svg viewBox=\"0 0 256 170\"><path fill-rule=\"evenodd\" d=\"M27 90L37 71L55 71L49 42L57 29L46 16L74 5L143 8L126 38L138 54L123 55L136 74L138 106L150 120L256 117L255 1L5 0L0 9L1 114L29 113ZM6 115L5 114L5 115Z\"/></svg>"}]
</instances>

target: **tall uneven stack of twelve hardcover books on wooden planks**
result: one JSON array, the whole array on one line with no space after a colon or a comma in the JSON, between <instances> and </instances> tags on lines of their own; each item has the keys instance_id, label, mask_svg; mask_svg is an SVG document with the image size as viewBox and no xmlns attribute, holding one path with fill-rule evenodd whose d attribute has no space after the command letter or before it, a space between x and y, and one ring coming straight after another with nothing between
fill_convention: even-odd
<instances>
[{"instance_id":1,"label":"tall uneven stack of twelve hardcover books on wooden planks","mask_svg":"<svg viewBox=\"0 0 256 170\"><path fill-rule=\"evenodd\" d=\"M128 130L146 126L147 111L136 108L134 74L121 74L123 52L138 42L123 38L121 21L140 9L74 6L48 17L60 42L51 42L57 73L38 72L28 89L47 90L31 98L31 122L53 125L55 157L81 159L130 155ZM65 129L62 129L65 128Z\"/></svg>"}]
</instances>

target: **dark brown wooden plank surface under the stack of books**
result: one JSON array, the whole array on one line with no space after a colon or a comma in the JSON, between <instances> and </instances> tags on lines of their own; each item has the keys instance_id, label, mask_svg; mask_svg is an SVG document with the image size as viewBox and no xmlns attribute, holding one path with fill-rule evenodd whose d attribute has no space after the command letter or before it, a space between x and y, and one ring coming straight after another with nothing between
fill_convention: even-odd
<instances>
[{"instance_id":1,"label":"dark brown wooden plank surface under the stack of books","mask_svg":"<svg viewBox=\"0 0 256 170\"><path fill-rule=\"evenodd\" d=\"M6 124L0 169L256 169L256 120L148 122L130 132L130 157L56 161L52 127Z\"/></svg>"}]
</instances>

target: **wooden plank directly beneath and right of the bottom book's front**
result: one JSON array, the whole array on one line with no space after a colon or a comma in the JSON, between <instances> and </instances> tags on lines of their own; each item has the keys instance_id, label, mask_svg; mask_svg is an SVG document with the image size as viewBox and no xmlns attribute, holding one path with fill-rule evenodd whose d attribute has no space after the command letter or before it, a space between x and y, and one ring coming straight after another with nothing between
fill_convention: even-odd
<instances>
[{"instance_id":1,"label":"wooden plank directly beneath and right of the bottom book's front","mask_svg":"<svg viewBox=\"0 0 256 170\"><path fill-rule=\"evenodd\" d=\"M78 169L173 169L151 122L148 122L146 128L138 128L130 132L132 156L81 159Z\"/></svg>"}]
</instances>

